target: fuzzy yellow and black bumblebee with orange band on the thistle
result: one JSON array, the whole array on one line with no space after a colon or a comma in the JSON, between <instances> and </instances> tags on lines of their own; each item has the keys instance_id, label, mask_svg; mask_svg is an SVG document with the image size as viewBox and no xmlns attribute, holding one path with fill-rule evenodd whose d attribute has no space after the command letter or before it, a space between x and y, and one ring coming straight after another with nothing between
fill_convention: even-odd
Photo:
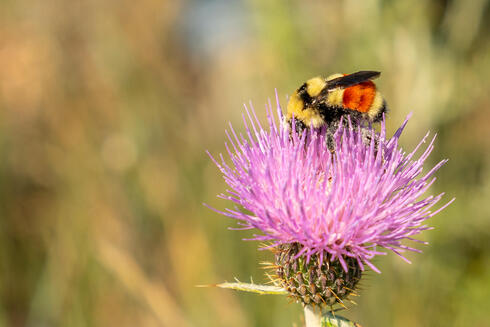
<instances>
[{"instance_id":1,"label":"fuzzy yellow and black bumblebee with orange band on the thistle","mask_svg":"<svg viewBox=\"0 0 490 327\"><path fill-rule=\"evenodd\" d=\"M291 95L286 121L291 124L294 117L294 128L298 132L323 126L333 132L340 119L347 115L354 124L379 122L388 110L385 99L372 82L380 74L359 71L311 78Z\"/></svg>"}]
</instances>

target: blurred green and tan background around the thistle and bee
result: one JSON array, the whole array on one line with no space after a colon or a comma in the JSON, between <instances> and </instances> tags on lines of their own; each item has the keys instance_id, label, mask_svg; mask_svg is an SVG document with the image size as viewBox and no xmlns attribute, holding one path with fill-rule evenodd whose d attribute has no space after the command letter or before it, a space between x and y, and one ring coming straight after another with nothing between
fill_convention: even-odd
<instances>
[{"instance_id":1,"label":"blurred green and tan background around the thistle and bee","mask_svg":"<svg viewBox=\"0 0 490 327\"><path fill-rule=\"evenodd\" d=\"M205 208L225 189L243 103L262 118L304 80L377 81L409 150L438 133L430 221L412 265L364 277L363 326L490 326L488 0L0 1L0 326L302 326L250 233Z\"/></svg>"}]
</instances>

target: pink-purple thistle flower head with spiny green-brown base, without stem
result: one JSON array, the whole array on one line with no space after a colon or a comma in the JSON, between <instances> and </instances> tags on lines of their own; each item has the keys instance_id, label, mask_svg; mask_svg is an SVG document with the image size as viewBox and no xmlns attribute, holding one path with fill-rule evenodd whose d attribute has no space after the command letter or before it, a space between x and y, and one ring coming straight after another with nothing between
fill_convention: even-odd
<instances>
[{"instance_id":1,"label":"pink-purple thistle flower head with spiny green-brown base, without stem","mask_svg":"<svg viewBox=\"0 0 490 327\"><path fill-rule=\"evenodd\" d=\"M325 131L291 131L279 102L277 117L270 104L267 111L268 129L253 108L244 117L245 135L230 124L228 162L211 156L230 187L219 197L238 205L216 211L237 219L240 229L260 231L252 239L269 242L278 283L291 296L305 304L342 303L366 266L379 272L372 259L383 249L407 262L404 251L419 252L402 241L420 242L413 236L430 229L424 221L450 203L431 211L443 194L421 198L446 162L422 173L435 137L415 159L428 134L412 152L400 149L409 117L391 138L384 121L379 133L339 124L331 152Z\"/></svg>"}]
</instances>

